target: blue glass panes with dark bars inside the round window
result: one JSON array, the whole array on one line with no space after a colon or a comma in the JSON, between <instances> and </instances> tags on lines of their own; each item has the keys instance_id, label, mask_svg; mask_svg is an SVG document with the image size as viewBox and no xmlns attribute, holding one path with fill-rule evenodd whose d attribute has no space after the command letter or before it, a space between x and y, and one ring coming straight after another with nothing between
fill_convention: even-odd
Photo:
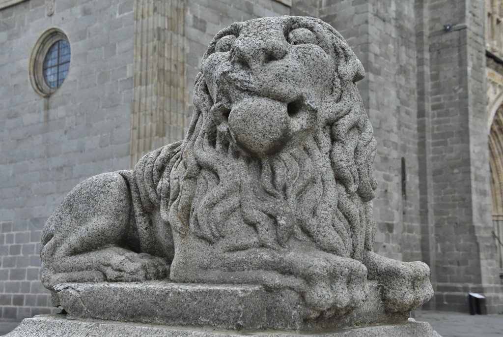
<instances>
[{"instance_id":1,"label":"blue glass panes with dark bars inside the round window","mask_svg":"<svg viewBox=\"0 0 503 337\"><path fill-rule=\"evenodd\" d=\"M43 74L45 83L51 89L61 87L70 66L70 44L59 40L50 46L45 55Z\"/></svg>"}]
</instances>

